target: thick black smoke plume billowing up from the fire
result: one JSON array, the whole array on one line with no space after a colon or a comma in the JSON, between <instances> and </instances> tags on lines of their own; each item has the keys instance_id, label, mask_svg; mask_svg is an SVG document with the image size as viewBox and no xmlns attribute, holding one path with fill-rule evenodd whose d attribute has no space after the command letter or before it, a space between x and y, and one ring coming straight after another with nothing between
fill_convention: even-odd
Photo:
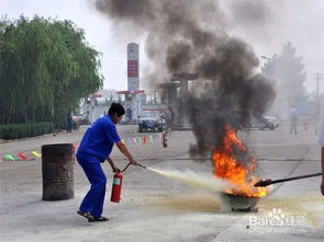
<instances>
[{"instance_id":1,"label":"thick black smoke plume billowing up from the fire","mask_svg":"<svg viewBox=\"0 0 324 242\"><path fill-rule=\"evenodd\" d=\"M265 12L262 4L245 2L250 2L253 12ZM222 146L226 124L234 128L248 124L273 100L269 81L256 74L258 58L253 47L226 34L226 14L219 1L97 0L96 7L122 34L130 31L146 36L145 49L152 61L149 82L165 82L174 73L199 74L195 85L200 92L188 96L182 106L197 139L190 148L192 155L210 154L212 148ZM236 14L239 9L244 8L236 8ZM243 21L247 19L241 15ZM254 15L255 21L266 19Z\"/></svg>"}]
</instances>

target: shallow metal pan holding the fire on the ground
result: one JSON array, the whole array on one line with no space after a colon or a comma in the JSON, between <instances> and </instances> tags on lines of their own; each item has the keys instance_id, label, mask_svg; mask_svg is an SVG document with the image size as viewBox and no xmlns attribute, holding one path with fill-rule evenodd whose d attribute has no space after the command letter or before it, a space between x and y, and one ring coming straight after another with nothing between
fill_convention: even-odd
<instances>
[{"instance_id":1,"label":"shallow metal pan holding the fire on the ground","mask_svg":"<svg viewBox=\"0 0 324 242\"><path fill-rule=\"evenodd\" d=\"M223 193L223 196L230 201L232 211L250 211L260 200L260 197L247 197L228 193Z\"/></svg>"}]
</instances>

